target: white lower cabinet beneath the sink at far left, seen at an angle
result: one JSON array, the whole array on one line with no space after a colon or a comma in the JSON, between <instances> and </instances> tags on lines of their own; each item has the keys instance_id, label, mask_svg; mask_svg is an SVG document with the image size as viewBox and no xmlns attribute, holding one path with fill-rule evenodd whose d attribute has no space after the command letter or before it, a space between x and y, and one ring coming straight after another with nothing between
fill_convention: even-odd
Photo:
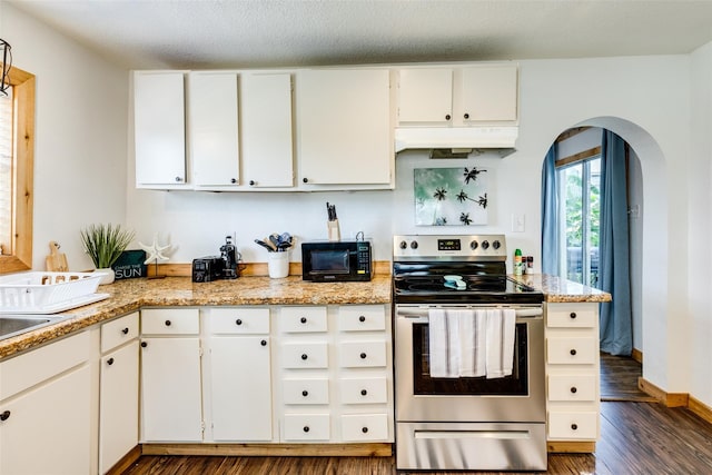
<instances>
[{"instance_id":1,"label":"white lower cabinet beneath the sink at far left, seen at an angle","mask_svg":"<svg viewBox=\"0 0 712 475\"><path fill-rule=\"evenodd\" d=\"M90 352L82 331L0 363L1 474L92 472Z\"/></svg>"}]
</instances>

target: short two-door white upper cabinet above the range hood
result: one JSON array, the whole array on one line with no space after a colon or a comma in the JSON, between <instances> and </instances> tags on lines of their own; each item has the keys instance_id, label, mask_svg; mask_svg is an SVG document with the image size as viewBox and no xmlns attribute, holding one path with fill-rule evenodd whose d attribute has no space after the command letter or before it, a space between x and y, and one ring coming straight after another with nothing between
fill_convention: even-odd
<instances>
[{"instance_id":1,"label":"short two-door white upper cabinet above the range hood","mask_svg":"<svg viewBox=\"0 0 712 475\"><path fill-rule=\"evenodd\" d=\"M398 125L475 126L517 120L517 66L414 67L398 71Z\"/></svg>"}]
</instances>

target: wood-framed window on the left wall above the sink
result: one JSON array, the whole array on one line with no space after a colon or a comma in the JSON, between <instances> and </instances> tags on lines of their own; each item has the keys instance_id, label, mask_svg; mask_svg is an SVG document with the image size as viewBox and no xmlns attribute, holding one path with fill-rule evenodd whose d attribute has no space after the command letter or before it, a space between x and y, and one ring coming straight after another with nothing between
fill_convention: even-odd
<instances>
[{"instance_id":1,"label":"wood-framed window on the left wall above the sink","mask_svg":"<svg viewBox=\"0 0 712 475\"><path fill-rule=\"evenodd\" d=\"M10 69L0 97L0 274L32 268L34 76Z\"/></svg>"}]
</instances>

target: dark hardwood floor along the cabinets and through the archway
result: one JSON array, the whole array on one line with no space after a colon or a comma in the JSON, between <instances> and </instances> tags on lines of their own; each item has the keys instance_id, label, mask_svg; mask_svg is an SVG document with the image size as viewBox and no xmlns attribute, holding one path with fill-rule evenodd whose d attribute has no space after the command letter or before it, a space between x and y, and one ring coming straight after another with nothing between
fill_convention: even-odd
<instances>
[{"instance_id":1,"label":"dark hardwood floor along the cabinets and through the archway","mask_svg":"<svg viewBox=\"0 0 712 475\"><path fill-rule=\"evenodd\" d=\"M640 364L602 356L601 438L595 454L550 454L547 474L712 473L712 425L637 389ZM395 474L394 457L142 456L123 475ZM482 475L507 472L477 472ZM542 473L542 472L535 472ZM402 472L406 474L406 472ZM413 474L426 475L425 472ZM447 472L437 472L447 475ZM463 474L454 472L451 475Z\"/></svg>"}]
</instances>

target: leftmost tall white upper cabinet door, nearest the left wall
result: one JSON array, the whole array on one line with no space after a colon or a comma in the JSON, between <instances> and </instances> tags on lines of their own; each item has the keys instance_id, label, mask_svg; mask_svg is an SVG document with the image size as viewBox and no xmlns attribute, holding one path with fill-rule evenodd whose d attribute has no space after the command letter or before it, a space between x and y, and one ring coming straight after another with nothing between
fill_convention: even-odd
<instances>
[{"instance_id":1,"label":"leftmost tall white upper cabinet door, nearest the left wall","mask_svg":"<svg viewBox=\"0 0 712 475\"><path fill-rule=\"evenodd\" d=\"M139 71L134 76L136 185L185 185L184 73Z\"/></svg>"}]
</instances>

